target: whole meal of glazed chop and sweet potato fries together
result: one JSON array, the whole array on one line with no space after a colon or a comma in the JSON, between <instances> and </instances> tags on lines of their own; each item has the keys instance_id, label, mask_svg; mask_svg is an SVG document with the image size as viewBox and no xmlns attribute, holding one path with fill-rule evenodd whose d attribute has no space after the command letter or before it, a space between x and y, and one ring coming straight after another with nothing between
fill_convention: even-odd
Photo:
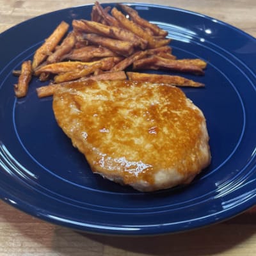
<instances>
[{"instance_id":1,"label":"whole meal of glazed chop and sweet potato fries together","mask_svg":"<svg viewBox=\"0 0 256 256\"><path fill-rule=\"evenodd\" d=\"M38 97L53 95L58 124L106 179L140 191L189 184L211 161L209 136L177 86L204 84L171 72L204 75L207 63L179 59L168 32L125 4L96 2L91 20L71 28L62 21L13 71L15 95L26 96L33 76L49 81Z\"/></svg>"}]
</instances>

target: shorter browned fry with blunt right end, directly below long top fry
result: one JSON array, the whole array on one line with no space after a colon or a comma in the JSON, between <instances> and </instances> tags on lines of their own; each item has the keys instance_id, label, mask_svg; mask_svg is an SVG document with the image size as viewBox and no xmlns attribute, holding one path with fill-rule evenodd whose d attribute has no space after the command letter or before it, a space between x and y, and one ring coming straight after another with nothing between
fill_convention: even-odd
<instances>
[{"instance_id":1,"label":"shorter browned fry with blunt right end, directly below long top fry","mask_svg":"<svg viewBox=\"0 0 256 256\"><path fill-rule=\"evenodd\" d=\"M102 45L122 56L129 56L134 52L134 47L131 42L112 39L96 34L86 34L84 35L84 38L92 42L92 44Z\"/></svg>"}]
</instances>

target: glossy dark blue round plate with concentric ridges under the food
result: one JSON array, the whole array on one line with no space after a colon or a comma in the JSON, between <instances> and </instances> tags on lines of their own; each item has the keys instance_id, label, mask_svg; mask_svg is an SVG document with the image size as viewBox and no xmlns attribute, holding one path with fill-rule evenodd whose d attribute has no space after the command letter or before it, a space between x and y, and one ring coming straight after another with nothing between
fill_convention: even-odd
<instances>
[{"instance_id":1,"label":"glossy dark blue round plate with concentric ridges under the food","mask_svg":"<svg viewBox=\"0 0 256 256\"><path fill-rule=\"evenodd\" d=\"M34 79L16 99L13 69L60 23L90 19L92 6L52 12L0 35L0 195L13 206L59 225L102 234L164 234L226 220L256 203L256 40L198 13L132 4L169 32L179 58L208 62L205 88L184 92L204 111L212 163L186 188L140 193L93 175L52 113Z\"/></svg>"}]
</instances>

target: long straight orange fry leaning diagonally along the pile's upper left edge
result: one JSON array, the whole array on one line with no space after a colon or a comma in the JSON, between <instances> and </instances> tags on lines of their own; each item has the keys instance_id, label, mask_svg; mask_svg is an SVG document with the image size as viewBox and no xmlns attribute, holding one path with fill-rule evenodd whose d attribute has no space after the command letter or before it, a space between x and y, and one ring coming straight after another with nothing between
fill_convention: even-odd
<instances>
[{"instance_id":1,"label":"long straight orange fry leaning diagonally along the pile's upper left edge","mask_svg":"<svg viewBox=\"0 0 256 256\"><path fill-rule=\"evenodd\" d=\"M56 45L59 44L65 33L67 33L68 27L69 25L67 22L62 21L60 25L54 29L52 34L45 40L44 44L42 44L42 46L36 50L32 61L33 70L35 70L35 68L47 58L48 52L52 52L55 49Z\"/></svg>"}]
</instances>

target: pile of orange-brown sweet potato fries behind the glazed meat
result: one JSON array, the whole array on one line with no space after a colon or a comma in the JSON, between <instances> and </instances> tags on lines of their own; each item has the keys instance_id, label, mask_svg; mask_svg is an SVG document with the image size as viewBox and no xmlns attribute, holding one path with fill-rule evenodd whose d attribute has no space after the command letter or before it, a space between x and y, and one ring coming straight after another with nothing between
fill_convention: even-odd
<instances>
[{"instance_id":1,"label":"pile of orange-brown sweet potato fries behind the glazed meat","mask_svg":"<svg viewBox=\"0 0 256 256\"><path fill-rule=\"evenodd\" d=\"M36 89L38 97L74 81L123 80L167 83L175 86L204 86L181 76L148 74L138 70L174 70L203 75L207 65L200 59L178 60L172 54L167 31L142 19L125 4L103 8L98 2L92 8L91 20L72 20L72 30L62 21L40 46L33 61L24 61L15 84L15 95L24 97L31 77L51 81ZM132 68L135 72L127 71Z\"/></svg>"}]
</instances>

